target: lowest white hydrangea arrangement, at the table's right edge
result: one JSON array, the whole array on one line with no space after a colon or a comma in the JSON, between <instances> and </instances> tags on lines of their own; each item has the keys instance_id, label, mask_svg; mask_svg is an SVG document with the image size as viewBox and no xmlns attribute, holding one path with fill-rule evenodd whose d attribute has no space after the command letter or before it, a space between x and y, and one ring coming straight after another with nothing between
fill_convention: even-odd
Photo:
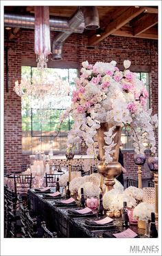
<instances>
[{"instance_id":1,"label":"lowest white hydrangea arrangement, at the table's right edge","mask_svg":"<svg viewBox=\"0 0 162 256\"><path fill-rule=\"evenodd\" d=\"M133 211L133 217L139 220L151 220L151 213L154 212L154 204L141 202Z\"/></svg>"}]
</instances>

